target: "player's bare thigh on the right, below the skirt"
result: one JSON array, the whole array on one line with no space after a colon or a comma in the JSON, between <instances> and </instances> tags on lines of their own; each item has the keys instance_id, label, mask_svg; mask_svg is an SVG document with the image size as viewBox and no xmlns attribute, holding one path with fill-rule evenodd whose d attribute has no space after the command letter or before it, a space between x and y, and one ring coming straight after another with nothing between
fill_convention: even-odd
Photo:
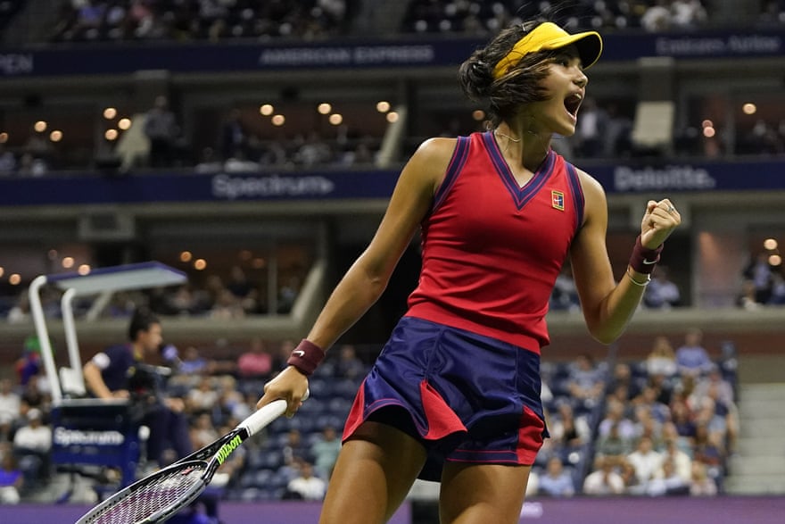
<instances>
[{"instance_id":1,"label":"player's bare thigh on the right, below the skirt","mask_svg":"<svg viewBox=\"0 0 785 524\"><path fill-rule=\"evenodd\" d=\"M446 462L442 524L517 524L531 466Z\"/></svg>"}]
</instances>

